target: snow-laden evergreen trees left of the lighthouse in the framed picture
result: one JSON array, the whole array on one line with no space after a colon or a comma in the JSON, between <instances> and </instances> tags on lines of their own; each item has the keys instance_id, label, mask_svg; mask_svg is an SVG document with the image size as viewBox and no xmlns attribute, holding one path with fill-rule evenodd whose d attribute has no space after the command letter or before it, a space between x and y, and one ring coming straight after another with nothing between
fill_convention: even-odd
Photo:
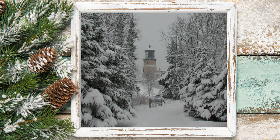
<instances>
[{"instance_id":1,"label":"snow-laden evergreen trees left of the lighthouse in the framed picture","mask_svg":"<svg viewBox=\"0 0 280 140\"><path fill-rule=\"evenodd\" d=\"M133 45L137 36L131 15L119 14L81 15L81 121L84 127L116 126L116 120L135 116L128 99L131 93L137 92L134 79L138 58ZM122 20L125 16L128 20ZM124 21L130 23L128 34L131 35L125 36Z\"/></svg>"}]
</instances>

